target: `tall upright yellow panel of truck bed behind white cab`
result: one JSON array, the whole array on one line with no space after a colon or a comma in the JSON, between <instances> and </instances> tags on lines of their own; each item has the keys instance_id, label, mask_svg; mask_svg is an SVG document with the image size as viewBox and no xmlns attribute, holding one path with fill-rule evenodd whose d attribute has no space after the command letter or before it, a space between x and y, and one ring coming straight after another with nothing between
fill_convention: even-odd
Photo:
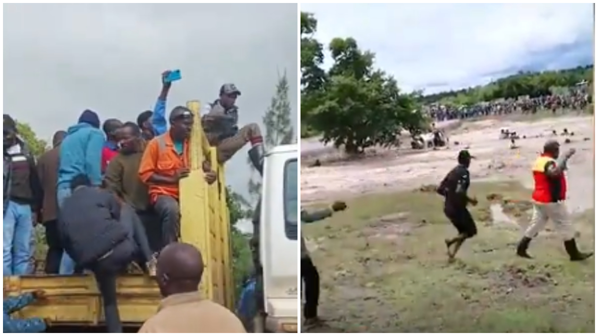
<instances>
[{"instance_id":1,"label":"tall upright yellow panel of truck bed behind white cab","mask_svg":"<svg viewBox=\"0 0 598 336\"><path fill-rule=\"evenodd\" d=\"M187 102L195 122L191 130L190 176L181 181L181 240L200 249L205 261L201 290L206 298L234 306L230 223L226 203L224 167L210 147L201 123L200 102ZM203 161L218 174L218 182L204 180Z\"/></svg>"}]
</instances>

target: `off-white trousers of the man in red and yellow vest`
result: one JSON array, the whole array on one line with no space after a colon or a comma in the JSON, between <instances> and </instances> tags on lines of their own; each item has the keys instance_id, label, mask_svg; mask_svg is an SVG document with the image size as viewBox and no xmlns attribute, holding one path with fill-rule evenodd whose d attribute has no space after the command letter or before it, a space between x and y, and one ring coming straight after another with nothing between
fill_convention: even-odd
<instances>
[{"instance_id":1,"label":"off-white trousers of the man in red and yellow vest","mask_svg":"<svg viewBox=\"0 0 598 336\"><path fill-rule=\"evenodd\" d=\"M533 202L532 222L527 227L524 236L533 238L544 230L548 221L553 221L557 233L563 236L564 240L575 237L575 230L571 225L569 212L564 202L538 203Z\"/></svg>"}]
</instances>

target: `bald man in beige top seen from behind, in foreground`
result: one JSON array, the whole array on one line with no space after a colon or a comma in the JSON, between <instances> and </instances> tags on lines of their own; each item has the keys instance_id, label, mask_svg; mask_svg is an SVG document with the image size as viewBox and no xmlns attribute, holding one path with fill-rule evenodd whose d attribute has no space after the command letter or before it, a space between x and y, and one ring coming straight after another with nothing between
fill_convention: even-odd
<instances>
[{"instance_id":1,"label":"bald man in beige top seen from behind, in foreground","mask_svg":"<svg viewBox=\"0 0 598 336\"><path fill-rule=\"evenodd\" d=\"M245 333L243 323L232 311L202 298L197 291L202 274L202 254L194 246L166 246L157 265L158 287L164 300L139 332Z\"/></svg>"}]
</instances>

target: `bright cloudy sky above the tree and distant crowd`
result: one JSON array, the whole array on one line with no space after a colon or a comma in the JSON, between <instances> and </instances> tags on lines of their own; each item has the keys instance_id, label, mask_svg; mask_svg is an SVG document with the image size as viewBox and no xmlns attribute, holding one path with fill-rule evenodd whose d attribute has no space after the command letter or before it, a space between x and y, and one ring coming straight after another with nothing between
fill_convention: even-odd
<instances>
[{"instance_id":1,"label":"bright cloudy sky above the tree and distant crowd","mask_svg":"<svg viewBox=\"0 0 598 336\"><path fill-rule=\"evenodd\" d=\"M318 34L355 38L401 87L433 93L520 70L593 63L592 4L301 4Z\"/></svg>"}]
</instances>

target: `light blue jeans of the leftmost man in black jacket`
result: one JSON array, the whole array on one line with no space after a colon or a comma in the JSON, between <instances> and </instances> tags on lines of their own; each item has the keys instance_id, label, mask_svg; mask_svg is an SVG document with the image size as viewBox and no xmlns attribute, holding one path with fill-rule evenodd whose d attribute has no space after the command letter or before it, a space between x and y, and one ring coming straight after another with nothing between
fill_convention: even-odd
<instances>
[{"instance_id":1,"label":"light blue jeans of the leftmost man in black jacket","mask_svg":"<svg viewBox=\"0 0 598 336\"><path fill-rule=\"evenodd\" d=\"M2 219L2 272L4 276L28 274L33 237L31 207L9 201Z\"/></svg>"}]
</instances>

